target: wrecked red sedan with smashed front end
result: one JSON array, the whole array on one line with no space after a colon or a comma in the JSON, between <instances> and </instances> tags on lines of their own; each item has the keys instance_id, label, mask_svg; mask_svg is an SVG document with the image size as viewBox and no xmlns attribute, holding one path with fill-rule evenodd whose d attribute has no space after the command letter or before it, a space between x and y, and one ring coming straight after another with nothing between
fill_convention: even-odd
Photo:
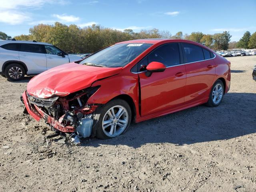
<instances>
[{"instance_id":1,"label":"wrecked red sedan with smashed front end","mask_svg":"<svg viewBox=\"0 0 256 192\"><path fill-rule=\"evenodd\" d=\"M132 121L218 106L230 75L230 62L202 44L131 40L35 76L22 100L35 120L44 118L54 130L107 139Z\"/></svg>"}]
</instances>

